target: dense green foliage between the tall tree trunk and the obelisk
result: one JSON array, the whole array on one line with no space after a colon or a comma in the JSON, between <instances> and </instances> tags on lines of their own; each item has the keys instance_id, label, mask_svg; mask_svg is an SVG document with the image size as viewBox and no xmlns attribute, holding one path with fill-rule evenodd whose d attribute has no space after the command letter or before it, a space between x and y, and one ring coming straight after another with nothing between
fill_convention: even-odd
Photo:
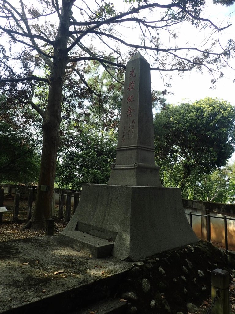
<instances>
[{"instance_id":1,"label":"dense green foliage between the tall tree trunk and the obelisk","mask_svg":"<svg viewBox=\"0 0 235 314\"><path fill-rule=\"evenodd\" d=\"M63 142L55 178L59 187L80 189L83 183L107 183L110 164L116 157L116 137L112 130L98 132L89 124L76 126L64 134Z\"/></svg>"}]
</instances>

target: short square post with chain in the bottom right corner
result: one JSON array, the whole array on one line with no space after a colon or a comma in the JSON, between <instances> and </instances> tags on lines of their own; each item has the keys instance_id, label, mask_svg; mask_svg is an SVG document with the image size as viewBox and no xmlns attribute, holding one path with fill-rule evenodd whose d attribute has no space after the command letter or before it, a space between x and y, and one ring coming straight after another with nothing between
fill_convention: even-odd
<instances>
[{"instance_id":1,"label":"short square post with chain in the bottom right corner","mask_svg":"<svg viewBox=\"0 0 235 314\"><path fill-rule=\"evenodd\" d=\"M212 302L218 293L218 299L212 308L212 314L229 314L229 281L227 270L216 268L212 271Z\"/></svg>"}]
</instances>

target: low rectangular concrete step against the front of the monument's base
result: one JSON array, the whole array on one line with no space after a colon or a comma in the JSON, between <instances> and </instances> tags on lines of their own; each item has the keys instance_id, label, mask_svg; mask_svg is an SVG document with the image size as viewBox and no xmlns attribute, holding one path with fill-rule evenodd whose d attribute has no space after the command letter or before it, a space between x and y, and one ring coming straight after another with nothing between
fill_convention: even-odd
<instances>
[{"instance_id":1,"label":"low rectangular concrete step against the front of the monument's base","mask_svg":"<svg viewBox=\"0 0 235 314\"><path fill-rule=\"evenodd\" d=\"M59 234L59 241L95 258L110 256L113 247L113 242L77 230L64 230Z\"/></svg>"}]
</instances>

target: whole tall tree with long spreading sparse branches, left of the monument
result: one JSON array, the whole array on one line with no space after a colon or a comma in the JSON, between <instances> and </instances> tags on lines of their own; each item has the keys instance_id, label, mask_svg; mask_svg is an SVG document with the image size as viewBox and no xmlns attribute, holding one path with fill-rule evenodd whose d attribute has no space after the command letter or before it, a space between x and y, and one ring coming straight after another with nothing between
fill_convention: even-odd
<instances>
[{"instance_id":1,"label":"whole tall tree with long spreading sparse branches, left of the monument","mask_svg":"<svg viewBox=\"0 0 235 314\"><path fill-rule=\"evenodd\" d=\"M109 73L111 68L122 73L126 58L117 48L122 45L130 48L127 58L137 49L152 56L153 70L165 73L205 68L215 82L214 70L218 69L222 76L221 67L232 56L233 41L221 48L221 45L215 45L211 35L201 49L188 43L178 47L171 42L171 39L177 41L175 25L182 22L203 26L205 30L213 29L215 33L228 27L220 28L203 18L204 7L204 0L173 0L167 4L143 0L129 1L126 12L119 12L113 3L101 0L89 1L89 4L84 0L76 3L75 0L18 0L14 4L1 1L1 35L4 42L9 39L9 46L0 46L2 92L22 105L30 104L42 119L38 183L39 187L48 185L49 191L38 189L30 221L32 228L44 228L45 219L50 216L62 105L66 96L80 95L82 98L84 86L89 88L84 72L86 62L96 60ZM130 23L135 24L141 34L138 40L135 34L130 39L123 37L127 31L131 33L133 24ZM165 34L170 34L167 41ZM119 80L119 76L115 79ZM46 102L44 97L41 101L38 88L48 90Z\"/></svg>"}]
</instances>

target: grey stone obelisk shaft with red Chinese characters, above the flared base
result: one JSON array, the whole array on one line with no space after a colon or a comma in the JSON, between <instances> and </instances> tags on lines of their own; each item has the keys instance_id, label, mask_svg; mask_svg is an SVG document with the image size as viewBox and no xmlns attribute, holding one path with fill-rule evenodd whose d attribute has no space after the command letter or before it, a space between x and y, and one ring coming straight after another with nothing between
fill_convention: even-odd
<instances>
[{"instance_id":1,"label":"grey stone obelisk shaft with red Chinese characters, above the flared base","mask_svg":"<svg viewBox=\"0 0 235 314\"><path fill-rule=\"evenodd\" d=\"M127 62L116 163L108 184L161 187L154 159L150 65L138 52Z\"/></svg>"}]
</instances>

